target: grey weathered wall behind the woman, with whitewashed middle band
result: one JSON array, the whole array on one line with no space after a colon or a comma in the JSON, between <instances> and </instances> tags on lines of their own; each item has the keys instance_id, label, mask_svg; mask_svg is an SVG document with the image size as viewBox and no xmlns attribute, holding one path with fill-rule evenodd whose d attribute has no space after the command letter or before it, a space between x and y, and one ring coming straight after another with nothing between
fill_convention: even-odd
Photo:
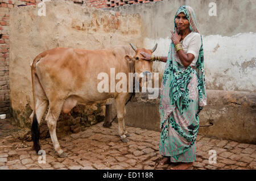
<instances>
[{"instance_id":1,"label":"grey weathered wall behind the woman, with whitewashed middle band","mask_svg":"<svg viewBox=\"0 0 256 181\"><path fill-rule=\"evenodd\" d=\"M209 16L215 2L217 16ZM256 143L256 6L254 1L171 0L115 7L112 10L139 14L142 18L143 46L159 46L155 55L167 56L174 29L174 15L181 5L193 7L203 35L208 106L200 113L199 134ZM165 63L154 63L163 73ZM232 99L231 99L232 98ZM216 101L218 100L218 101ZM240 101L243 100L242 104ZM142 111L134 107L143 104ZM155 106L154 106L155 105ZM152 108L154 106L154 108ZM127 104L127 122L135 127L159 131L159 102ZM148 111L150 110L150 111ZM147 115L148 114L148 115Z\"/></svg>"}]
</instances>

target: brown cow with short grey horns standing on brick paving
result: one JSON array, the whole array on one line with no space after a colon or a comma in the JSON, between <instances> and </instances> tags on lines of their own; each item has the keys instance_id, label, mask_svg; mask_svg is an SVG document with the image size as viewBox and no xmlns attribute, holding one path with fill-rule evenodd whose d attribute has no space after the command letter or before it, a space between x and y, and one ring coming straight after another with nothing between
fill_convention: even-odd
<instances>
[{"instance_id":1,"label":"brown cow with short grey horns standing on brick paving","mask_svg":"<svg viewBox=\"0 0 256 181\"><path fill-rule=\"evenodd\" d=\"M151 72L152 62L141 60L140 52L152 54L157 44L152 50L131 46L135 55L131 47L118 46L101 50L55 48L35 57L31 65L34 111L30 118L36 152L40 150L39 125L48 106L46 121L53 147L59 157L67 157L56 136L56 122L60 112L68 113L76 104L89 104L108 98L115 98L119 136L123 142L129 141L123 119L126 113L125 100L129 92L99 92L97 85L100 82L98 74L110 75L110 68L115 69L115 74Z\"/></svg>"}]
</instances>

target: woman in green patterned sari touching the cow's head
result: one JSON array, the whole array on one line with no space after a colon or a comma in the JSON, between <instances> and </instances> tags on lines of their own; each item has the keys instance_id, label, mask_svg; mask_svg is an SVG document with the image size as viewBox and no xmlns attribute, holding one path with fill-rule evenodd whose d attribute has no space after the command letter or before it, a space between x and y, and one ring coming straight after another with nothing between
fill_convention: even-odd
<instances>
[{"instance_id":1,"label":"woman in green patterned sari touching the cow's head","mask_svg":"<svg viewBox=\"0 0 256 181\"><path fill-rule=\"evenodd\" d=\"M196 160L199 112L207 104L203 42L190 6L179 7L174 25L168 57L141 54L144 60L167 62L160 91L160 165L187 169Z\"/></svg>"}]
</instances>

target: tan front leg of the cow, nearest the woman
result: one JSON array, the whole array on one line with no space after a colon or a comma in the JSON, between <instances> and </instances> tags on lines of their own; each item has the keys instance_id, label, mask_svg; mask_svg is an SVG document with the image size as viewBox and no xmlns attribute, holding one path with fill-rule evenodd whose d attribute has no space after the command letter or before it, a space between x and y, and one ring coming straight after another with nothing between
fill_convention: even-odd
<instances>
[{"instance_id":1,"label":"tan front leg of the cow, nearest the woman","mask_svg":"<svg viewBox=\"0 0 256 181\"><path fill-rule=\"evenodd\" d=\"M115 98L115 102L117 105L117 120L118 120L118 133L123 142L128 142L129 140L126 138L125 133L123 132L123 117L125 115L125 99L127 94L118 94L117 98Z\"/></svg>"}]
</instances>

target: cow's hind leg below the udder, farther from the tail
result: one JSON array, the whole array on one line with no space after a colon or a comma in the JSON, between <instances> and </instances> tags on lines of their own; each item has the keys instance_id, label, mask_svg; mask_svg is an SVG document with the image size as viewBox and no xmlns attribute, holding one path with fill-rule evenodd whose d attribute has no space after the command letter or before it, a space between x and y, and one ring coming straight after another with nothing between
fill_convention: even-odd
<instances>
[{"instance_id":1,"label":"cow's hind leg below the udder, farther from the tail","mask_svg":"<svg viewBox=\"0 0 256 181\"><path fill-rule=\"evenodd\" d=\"M63 106L63 102L56 103L56 104L51 104L51 103L49 104L50 104L50 107L46 116L46 121L49 128L49 133L51 135L53 148L55 149L55 151L57 151L57 153L59 154L59 157L67 157L67 154L64 153L63 149L60 148L60 144L56 136L57 119L59 118L61 108Z\"/></svg>"}]
</instances>

